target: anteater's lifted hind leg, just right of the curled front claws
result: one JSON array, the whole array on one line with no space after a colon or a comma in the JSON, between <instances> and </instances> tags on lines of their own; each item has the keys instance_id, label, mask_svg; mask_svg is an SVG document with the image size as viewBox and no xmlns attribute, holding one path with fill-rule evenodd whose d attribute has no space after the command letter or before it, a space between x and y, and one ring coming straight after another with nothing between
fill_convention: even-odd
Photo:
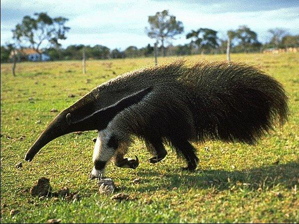
<instances>
[{"instance_id":1,"label":"anteater's lifted hind leg, just right of the curled front claws","mask_svg":"<svg viewBox=\"0 0 299 224\"><path fill-rule=\"evenodd\" d=\"M146 145L148 151L153 155L153 157L149 159L150 163L160 162L167 155L165 147L162 143L162 139L160 137L147 138Z\"/></svg>"}]
</instances>

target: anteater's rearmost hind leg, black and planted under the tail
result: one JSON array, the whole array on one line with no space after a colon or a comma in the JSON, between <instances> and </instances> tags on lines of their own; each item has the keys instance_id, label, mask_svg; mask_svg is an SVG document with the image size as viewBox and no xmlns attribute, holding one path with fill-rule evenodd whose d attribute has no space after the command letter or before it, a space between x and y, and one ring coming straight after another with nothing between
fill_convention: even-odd
<instances>
[{"instance_id":1,"label":"anteater's rearmost hind leg, black and planted under the tail","mask_svg":"<svg viewBox=\"0 0 299 224\"><path fill-rule=\"evenodd\" d=\"M194 153L195 148L187 140L175 140L171 141L171 143L187 160L188 166L184 167L183 170L195 170L198 162L198 158Z\"/></svg>"}]
</instances>

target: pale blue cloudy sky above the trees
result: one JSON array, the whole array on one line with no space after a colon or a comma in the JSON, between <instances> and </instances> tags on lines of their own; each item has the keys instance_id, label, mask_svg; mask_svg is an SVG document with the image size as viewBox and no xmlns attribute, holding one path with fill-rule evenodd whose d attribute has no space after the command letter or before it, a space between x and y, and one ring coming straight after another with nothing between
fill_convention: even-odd
<instances>
[{"instance_id":1,"label":"pale blue cloudy sky above the trees","mask_svg":"<svg viewBox=\"0 0 299 224\"><path fill-rule=\"evenodd\" d=\"M148 16L164 9L184 25L184 33L172 40L174 45L189 43L186 34L198 28L214 29L226 39L227 30L247 25L263 43L270 40L272 28L299 34L299 0L1 0L0 44L11 40L11 29L23 16L47 12L69 19L66 25L71 29L60 41L62 47L140 48L154 43L145 32Z\"/></svg>"}]
</instances>

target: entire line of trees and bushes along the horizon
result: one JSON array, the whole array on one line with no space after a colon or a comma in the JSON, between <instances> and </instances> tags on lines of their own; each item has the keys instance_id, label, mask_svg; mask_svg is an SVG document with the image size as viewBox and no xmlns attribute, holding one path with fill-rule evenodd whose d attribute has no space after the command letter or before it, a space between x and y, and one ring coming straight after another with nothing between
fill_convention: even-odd
<instances>
[{"instance_id":1,"label":"entire line of trees and bushes along the horizon","mask_svg":"<svg viewBox=\"0 0 299 224\"><path fill-rule=\"evenodd\" d=\"M134 58L153 56L154 47L150 44L137 48L129 46L125 50L118 48L110 49L103 45L70 45L62 48L59 41L66 39L66 33L70 27L65 26L68 21L64 17L51 18L46 13L35 13L35 17L24 16L21 23L12 30L12 43L1 46L1 63L11 60L11 51L30 47L41 54L46 53L51 60L80 60L83 50L89 59L109 58ZM285 29L276 28L268 30L271 35L269 42L262 44L258 41L258 34L248 26L239 26L236 30L228 30L227 38L218 37L216 30L201 27L186 33L189 43L184 45L172 45L171 41L184 32L181 21L177 21L168 10L156 12L148 17L149 26L145 32L156 41L158 45L158 56L181 56L192 54L223 54L227 51L260 52L268 48L299 47L299 35L290 35ZM42 44L47 47L40 50ZM165 43L168 43L165 46ZM25 59L25 58L24 58Z\"/></svg>"}]
</instances>

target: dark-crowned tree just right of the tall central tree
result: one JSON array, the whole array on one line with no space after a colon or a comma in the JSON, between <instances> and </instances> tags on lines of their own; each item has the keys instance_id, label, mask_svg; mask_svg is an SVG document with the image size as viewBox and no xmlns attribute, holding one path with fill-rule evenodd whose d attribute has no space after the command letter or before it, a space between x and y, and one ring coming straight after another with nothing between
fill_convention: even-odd
<instances>
[{"instance_id":1,"label":"dark-crowned tree just right of the tall central tree","mask_svg":"<svg viewBox=\"0 0 299 224\"><path fill-rule=\"evenodd\" d=\"M196 44L198 47L198 53L202 50L210 52L212 48L217 48L219 44L217 43L217 31L208 28L199 28L197 31L191 30L187 33L186 39L191 39L192 43Z\"/></svg>"}]
</instances>

